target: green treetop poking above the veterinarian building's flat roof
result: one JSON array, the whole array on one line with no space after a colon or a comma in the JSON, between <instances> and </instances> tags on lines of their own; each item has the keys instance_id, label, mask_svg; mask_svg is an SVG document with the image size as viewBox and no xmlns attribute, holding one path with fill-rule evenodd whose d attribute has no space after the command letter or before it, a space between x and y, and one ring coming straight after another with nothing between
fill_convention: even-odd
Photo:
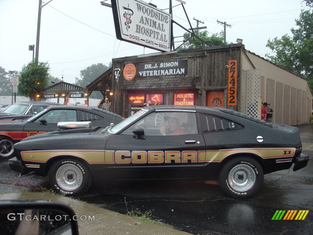
<instances>
[{"instance_id":1,"label":"green treetop poking above the veterinarian building's flat roof","mask_svg":"<svg viewBox=\"0 0 313 235\"><path fill-rule=\"evenodd\" d=\"M201 38L203 41L201 41L197 37L191 37L188 32L184 33L184 41L185 41L185 47L188 49L193 48L201 48L201 47L209 47L209 46L216 46L216 45L226 45L224 43L224 40L217 36L217 34L213 34L211 37L208 36L208 31L203 30L200 31L198 29L194 30L195 35ZM182 49L179 47L179 49Z\"/></svg>"}]
</instances>

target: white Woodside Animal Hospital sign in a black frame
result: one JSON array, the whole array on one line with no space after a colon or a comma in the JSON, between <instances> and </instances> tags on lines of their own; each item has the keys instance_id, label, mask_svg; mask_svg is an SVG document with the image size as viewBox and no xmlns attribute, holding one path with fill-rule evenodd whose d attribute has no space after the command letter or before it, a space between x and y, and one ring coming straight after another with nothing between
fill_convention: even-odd
<instances>
[{"instance_id":1,"label":"white Woodside Animal Hospital sign in a black frame","mask_svg":"<svg viewBox=\"0 0 313 235\"><path fill-rule=\"evenodd\" d=\"M171 15L141 0L112 0L116 38L170 51Z\"/></svg>"}]
</instances>

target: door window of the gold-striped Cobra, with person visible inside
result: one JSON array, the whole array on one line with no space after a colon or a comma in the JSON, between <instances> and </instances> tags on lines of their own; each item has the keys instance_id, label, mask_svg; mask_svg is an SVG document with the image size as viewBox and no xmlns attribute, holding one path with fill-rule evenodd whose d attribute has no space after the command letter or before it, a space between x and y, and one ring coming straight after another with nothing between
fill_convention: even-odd
<instances>
[{"instance_id":1,"label":"door window of the gold-striped Cobra, with person visible inside","mask_svg":"<svg viewBox=\"0 0 313 235\"><path fill-rule=\"evenodd\" d=\"M149 114L123 131L124 135L134 135L142 128L146 136L177 136L197 134L196 114L191 112L157 112Z\"/></svg>"}]
</instances>

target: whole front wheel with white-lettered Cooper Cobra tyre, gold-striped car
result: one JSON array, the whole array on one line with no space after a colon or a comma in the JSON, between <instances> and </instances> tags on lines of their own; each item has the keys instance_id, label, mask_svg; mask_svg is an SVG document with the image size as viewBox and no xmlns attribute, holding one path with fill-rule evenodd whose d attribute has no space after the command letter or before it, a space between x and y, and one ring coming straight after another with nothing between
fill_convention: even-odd
<instances>
[{"instance_id":1,"label":"whole front wheel with white-lettered Cooper Cobra tyre, gold-striped car","mask_svg":"<svg viewBox=\"0 0 313 235\"><path fill-rule=\"evenodd\" d=\"M57 160L48 174L51 187L70 196L83 194L91 185L91 173L85 163L74 160Z\"/></svg>"}]
</instances>

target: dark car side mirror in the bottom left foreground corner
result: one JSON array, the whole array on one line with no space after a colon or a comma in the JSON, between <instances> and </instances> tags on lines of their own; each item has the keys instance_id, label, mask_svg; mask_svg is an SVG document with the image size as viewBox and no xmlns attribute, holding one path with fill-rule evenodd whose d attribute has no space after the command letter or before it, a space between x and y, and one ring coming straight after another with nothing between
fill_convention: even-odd
<instances>
[{"instance_id":1,"label":"dark car side mirror in the bottom left foreground corner","mask_svg":"<svg viewBox=\"0 0 313 235\"><path fill-rule=\"evenodd\" d=\"M47 201L0 201L1 234L78 235L75 212Z\"/></svg>"}]
</instances>

